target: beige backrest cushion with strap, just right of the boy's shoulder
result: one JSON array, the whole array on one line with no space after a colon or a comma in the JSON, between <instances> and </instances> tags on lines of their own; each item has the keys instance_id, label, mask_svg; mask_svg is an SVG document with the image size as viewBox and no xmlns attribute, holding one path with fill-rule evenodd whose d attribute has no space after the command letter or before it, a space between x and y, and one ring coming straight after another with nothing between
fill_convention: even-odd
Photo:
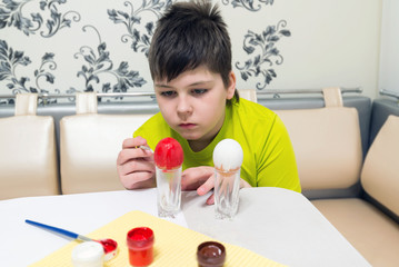
<instances>
[{"instance_id":1,"label":"beige backrest cushion with strap, just right of the boy's shoulder","mask_svg":"<svg viewBox=\"0 0 399 267\"><path fill-rule=\"evenodd\" d=\"M275 110L291 138L302 190L348 188L360 179L358 112L331 99L319 109Z\"/></svg>"}]
</instances>

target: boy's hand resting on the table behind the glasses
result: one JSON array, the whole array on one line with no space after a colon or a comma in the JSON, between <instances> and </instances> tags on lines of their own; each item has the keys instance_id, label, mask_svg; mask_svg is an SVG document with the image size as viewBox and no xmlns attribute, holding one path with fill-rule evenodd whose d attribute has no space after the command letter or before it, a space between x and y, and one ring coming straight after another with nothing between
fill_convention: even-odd
<instances>
[{"instance_id":1,"label":"boy's hand resting on the table behind the glasses","mask_svg":"<svg viewBox=\"0 0 399 267\"><path fill-rule=\"evenodd\" d=\"M202 166L186 169L181 177L181 190L197 190L200 196L206 195L215 187L215 168ZM240 180L240 188L251 187L247 181ZM215 204L213 194L207 199L208 205Z\"/></svg>"}]
</instances>

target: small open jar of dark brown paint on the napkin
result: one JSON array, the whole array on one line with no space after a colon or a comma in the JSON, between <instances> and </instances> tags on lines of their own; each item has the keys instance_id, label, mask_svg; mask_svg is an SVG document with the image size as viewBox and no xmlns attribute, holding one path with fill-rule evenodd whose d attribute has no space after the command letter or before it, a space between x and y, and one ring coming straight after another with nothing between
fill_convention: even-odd
<instances>
[{"instance_id":1,"label":"small open jar of dark brown paint on the napkin","mask_svg":"<svg viewBox=\"0 0 399 267\"><path fill-rule=\"evenodd\" d=\"M222 266L226 259L226 248L217 241L206 241L198 246L197 259L200 266Z\"/></svg>"}]
</instances>

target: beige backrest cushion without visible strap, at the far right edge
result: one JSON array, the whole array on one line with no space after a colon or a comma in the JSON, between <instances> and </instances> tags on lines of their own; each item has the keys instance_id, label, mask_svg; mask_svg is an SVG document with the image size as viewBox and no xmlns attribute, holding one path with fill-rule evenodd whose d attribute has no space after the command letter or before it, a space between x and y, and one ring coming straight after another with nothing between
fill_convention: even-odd
<instances>
[{"instance_id":1,"label":"beige backrest cushion without visible strap, at the far right edge","mask_svg":"<svg viewBox=\"0 0 399 267\"><path fill-rule=\"evenodd\" d=\"M373 199L399 216L399 117L390 115L371 144L361 184Z\"/></svg>"}]
</instances>

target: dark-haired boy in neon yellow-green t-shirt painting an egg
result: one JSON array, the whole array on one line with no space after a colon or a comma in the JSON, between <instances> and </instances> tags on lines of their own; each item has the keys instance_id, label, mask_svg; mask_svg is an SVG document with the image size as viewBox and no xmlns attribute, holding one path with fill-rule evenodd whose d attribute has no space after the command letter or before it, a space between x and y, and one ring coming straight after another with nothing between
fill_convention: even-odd
<instances>
[{"instance_id":1,"label":"dark-haired boy in neon yellow-green t-shirt painting an egg","mask_svg":"<svg viewBox=\"0 0 399 267\"><path fill-rule=\"evenodd\" d=\"M183 148L182 190L213 188L212 152L226 138L243 150L241 188L282 187L300 191L297 165L282 121L261 105L239 99L231 44L217 7L178 2L158 21L149 65L160 112L123 141L118 175L128 189L156 186L152 152L164 137ZM213 195L207 199L213 204Z\"/></svg>"}]
</instances>

